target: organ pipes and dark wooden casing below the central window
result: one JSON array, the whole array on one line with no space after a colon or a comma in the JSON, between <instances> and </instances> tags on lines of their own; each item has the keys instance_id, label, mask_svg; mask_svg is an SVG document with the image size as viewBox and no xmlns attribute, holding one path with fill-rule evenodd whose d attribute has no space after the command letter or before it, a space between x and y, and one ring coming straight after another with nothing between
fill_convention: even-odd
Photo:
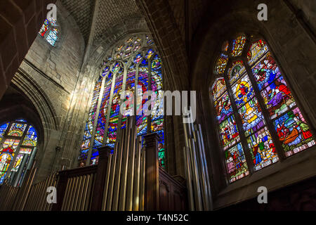
<instances>
[{"instance_id":1,"label":"organ pipes and dark wooden casing below the central window","mask_svg":"<svg viewBox=\"0 0 316 225\"><path fill-rule=\"evenodd\" d=\"M32 211L154 211L187 210L184 179L177 181L159 167L157 134L136 136L126 122L114 153L99 148L98 165L60 171L33 184L36 169L21 188L0 189L0 210ZM57 203L47 201L47 188L57 191Z\"/></svg>"}]
</instances>

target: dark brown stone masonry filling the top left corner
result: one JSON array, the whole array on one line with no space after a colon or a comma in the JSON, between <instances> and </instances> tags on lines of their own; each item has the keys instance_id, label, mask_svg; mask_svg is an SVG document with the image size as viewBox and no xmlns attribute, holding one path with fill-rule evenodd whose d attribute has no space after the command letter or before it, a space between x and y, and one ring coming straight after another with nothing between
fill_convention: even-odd
<instances>
[{"instance_id":1,"label":"dark brown stone masonry filling the top left corner","mask_svg":"<svg viewBox=\"0 0 316 225\"><path fill-rule=\"evenodd\" d=\"M46 6L56 0L2 0L0 2L0 99L37 37Z\"/></svg>"}]
</instances>

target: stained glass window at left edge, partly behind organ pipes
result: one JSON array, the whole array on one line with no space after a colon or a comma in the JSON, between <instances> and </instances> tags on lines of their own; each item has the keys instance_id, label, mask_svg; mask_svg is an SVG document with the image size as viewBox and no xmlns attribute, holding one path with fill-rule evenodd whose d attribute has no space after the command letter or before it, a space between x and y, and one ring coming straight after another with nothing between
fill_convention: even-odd
<instances>
[{"instance_id":1,"label":"stained glass window at left edge, partly behind organ pipes","mask_svg":"<svg viewBox=\"0 0 316 225\"><path fill-rule=\"evenodd\" d=\"M37 131L26 120L15 120L0 125L0 184L9 179L20 184L31 154L37 146ZM20 167L23 165L23 167Z\"/></svg>"}]
</instances>

